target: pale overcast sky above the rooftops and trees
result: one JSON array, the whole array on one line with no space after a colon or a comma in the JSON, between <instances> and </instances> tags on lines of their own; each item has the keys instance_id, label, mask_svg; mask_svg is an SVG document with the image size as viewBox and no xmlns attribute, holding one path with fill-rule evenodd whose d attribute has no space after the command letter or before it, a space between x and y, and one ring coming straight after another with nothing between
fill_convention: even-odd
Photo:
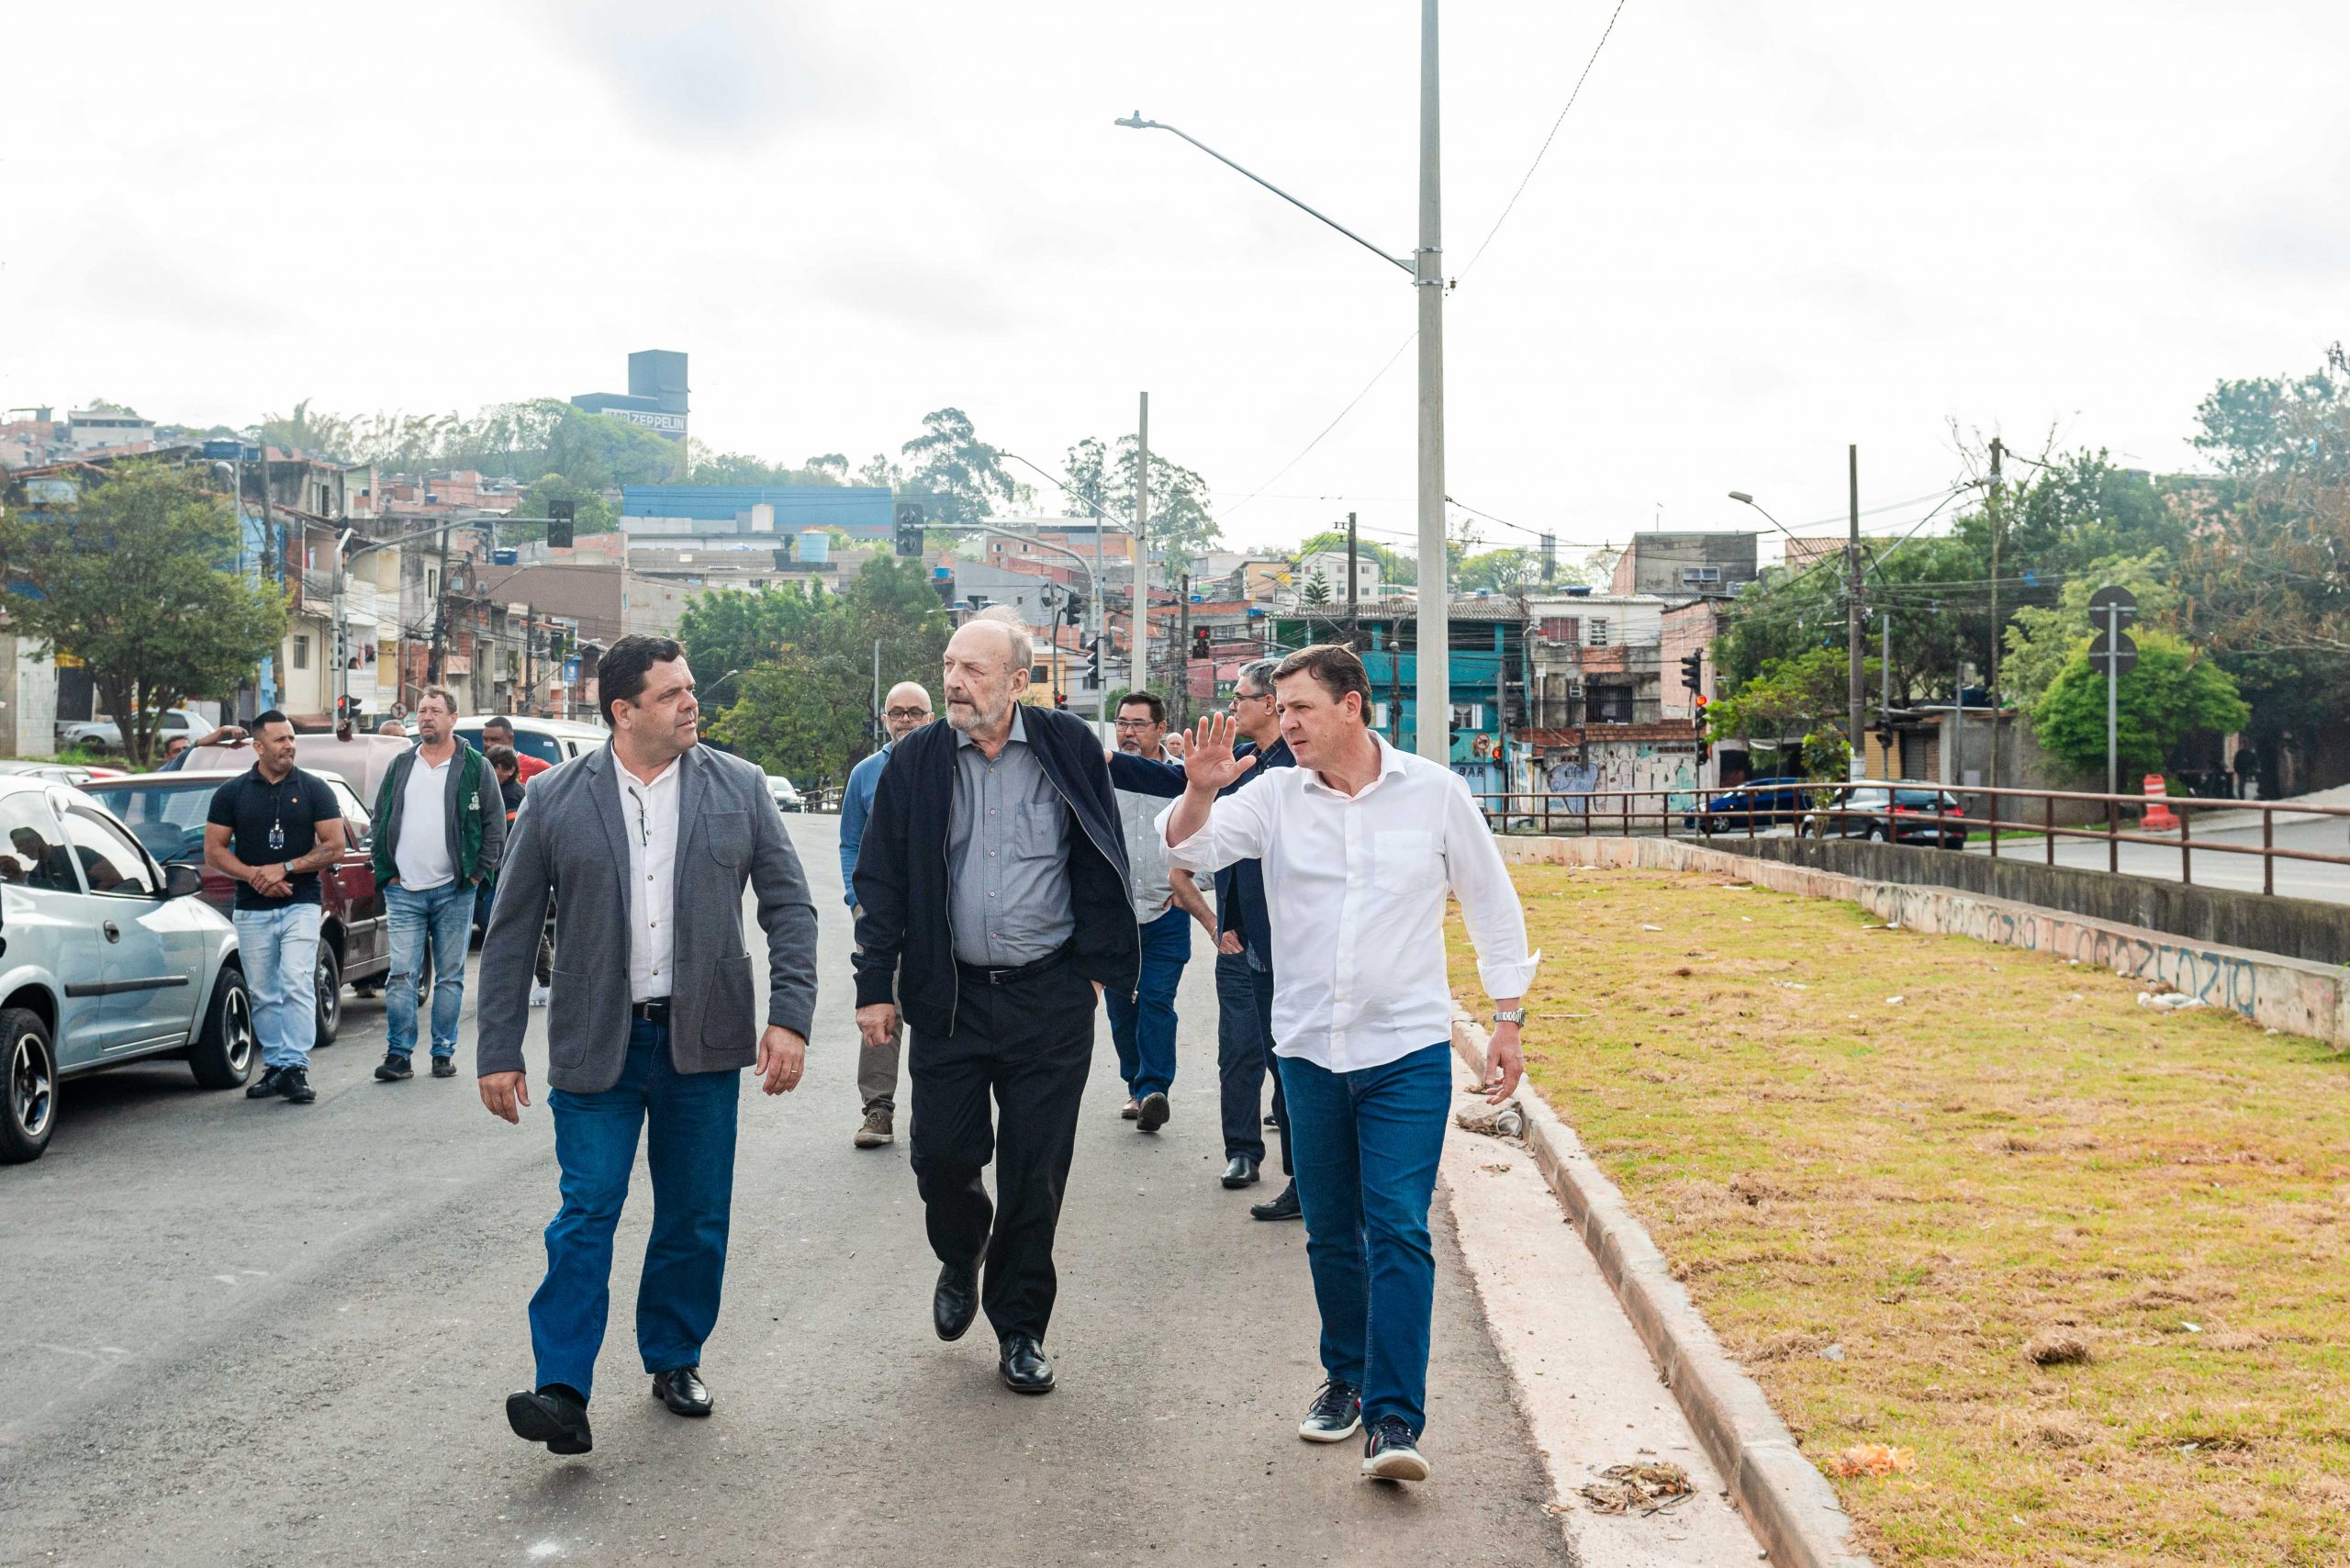
<instances>
[{"instance_id":1,"label":"pale overcast sky above the rooftops and trees","mask_svg":"<svg viewBox=\"0 0 2350 1568\"><path fill-rule=\"evenodd\" d=\"M5 38L5 407L472 411L679 348L714 449L862 463L952 404L1060 468L1147 390L1227 543L1412 536L1405 273L1114 125L1408 254L1405 0L122 0ZM2216 381L2345 336L2345 71L2350 7L2298 0L1445 5L1455 520L1572 557L1753 529L1741 489L1828 531L1856 444L1892 531L1993 433L2197 465Z\"/></svg>"}]
</instances>

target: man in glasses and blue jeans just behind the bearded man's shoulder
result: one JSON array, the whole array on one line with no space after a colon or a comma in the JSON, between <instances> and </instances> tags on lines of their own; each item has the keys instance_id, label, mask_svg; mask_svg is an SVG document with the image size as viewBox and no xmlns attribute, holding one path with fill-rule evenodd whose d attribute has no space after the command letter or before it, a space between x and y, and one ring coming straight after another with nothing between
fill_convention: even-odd
<instances>
[{"instance_id":1,"label":"man in glasses and blue jeans just behind the bearded man's shoulder","mask_svg":"<svg viewBox=\"0 0 2350 1568\"><path fill-rule=\"evenodd\" d=\"M1119 752L1166 762L1168 705L1156 691L1119 698ZM1116 783L1112 773L1112 785ZM1109 1039L1126 1077L1126 1117L1142 1133L1168 1124L1168 1088L1175 1086L1175 992L1191 961L1191 922L1215 940L1215 912L1191 872L1168 867L1154 832L1161 795L1119 790L1119 823L1133 877L1135 924L1142 931L1142 978L1133 997L1104 992Z\"/></svg>"}]
</instances>

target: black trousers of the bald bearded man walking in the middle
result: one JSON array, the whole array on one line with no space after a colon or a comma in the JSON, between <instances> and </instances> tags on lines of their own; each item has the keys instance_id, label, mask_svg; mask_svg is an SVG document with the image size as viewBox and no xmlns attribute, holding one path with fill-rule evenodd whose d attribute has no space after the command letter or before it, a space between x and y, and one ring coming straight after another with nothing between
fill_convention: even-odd
<instances>
[{"instance_id":1,"label":"black trousers of the bald bearded man walking in the middle","mask_svg":"<svg viewBox=\"0 0 2350 1568\"><path fill-rule=\"evenodd\" d=\"M961 983L954 1034L914 1030L914 1185L940 1262L980 1262L1003 1340L1053 1319L1053 1232L1093 1067L1093 983L1069 964L1006 985ZM994 1117L989 1114L994 1095ZM996 1201L980 1171L994 1159Z\"/></svg>"}]
</instances>

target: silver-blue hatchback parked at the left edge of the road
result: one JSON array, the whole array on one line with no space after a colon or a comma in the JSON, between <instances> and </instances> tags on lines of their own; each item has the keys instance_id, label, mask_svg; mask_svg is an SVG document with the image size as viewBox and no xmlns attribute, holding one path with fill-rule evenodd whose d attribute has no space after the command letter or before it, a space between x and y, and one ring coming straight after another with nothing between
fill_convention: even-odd
<instances>
[{"instance_id":1,"label":"silver-blue hatchback parked at the left edge of the road","mask_svg":"<svg viewBox=\"0 0 2350 1568\"><path fill-rule=\"evenodd\" d=\"M181 1056L204 1088L254 1074L237 929L96 799L0 776L0 1161L40 1159L59 1086Z\"/></svg>"}]
</instances>

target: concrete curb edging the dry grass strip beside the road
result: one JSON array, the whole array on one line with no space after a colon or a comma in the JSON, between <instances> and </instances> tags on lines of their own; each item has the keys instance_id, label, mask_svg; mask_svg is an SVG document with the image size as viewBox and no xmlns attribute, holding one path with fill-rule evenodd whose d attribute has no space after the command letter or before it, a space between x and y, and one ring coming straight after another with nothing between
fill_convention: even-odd
<instances>
[{"instance_id":1,"label":"concrete curb edging the dry grass strip beside the road","mask_svg":"<svg viewBox=\"0 0 2350 1568\"><path fill-rule=\"evenodd\" d=\"M1469 1013L1452 1011L1452 1051L1476 1077L1485 1074L1485 1039ZM1532 1084L1518 1088L1518 1107L1542 1180L1598 1260L1770 1561L1779 1568L1873 1568L1849 1544L1852 1519L1835 1488L1802 1458L1770 1399L1713 1338L1647 1227L1591 1161L1574 1128Z\"/></svg>"}]
</instances>

